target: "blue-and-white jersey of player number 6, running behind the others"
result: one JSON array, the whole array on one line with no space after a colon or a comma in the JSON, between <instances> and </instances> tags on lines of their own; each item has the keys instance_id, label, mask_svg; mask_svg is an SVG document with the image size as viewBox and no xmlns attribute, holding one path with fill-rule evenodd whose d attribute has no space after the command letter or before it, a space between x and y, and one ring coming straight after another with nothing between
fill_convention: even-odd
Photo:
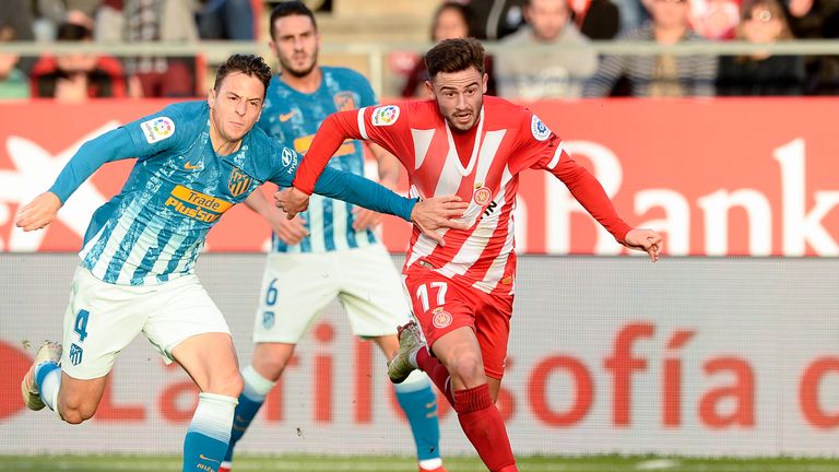
<instances>
[{"instance_id":1,"label":"blue-and-white jersey of player number 6, running behind the others","mask_svg":"<svg viewBox=\"0 0 839 472\"><path fill-rule=\"evenodd\" d=\"M376 95L362 74L345 68L321 67L323 79L314 93L302 93L275 75L265 97L259 126L271 137L306 154L320 123L331 114L376 105ZM364 152L359 141L347 140L329 161L329 166L364 175ZM291 246L272 234L276 252L324 252L377 243L373 231L354 231L352 203L311 196L309 209L300 213L309 236Z\"/></svg>"}]
</instances>

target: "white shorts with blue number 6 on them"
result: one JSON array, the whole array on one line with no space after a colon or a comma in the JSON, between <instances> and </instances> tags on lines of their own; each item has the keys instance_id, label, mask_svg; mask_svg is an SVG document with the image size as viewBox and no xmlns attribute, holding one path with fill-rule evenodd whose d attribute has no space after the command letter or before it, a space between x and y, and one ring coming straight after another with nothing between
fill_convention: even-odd
<instances>
[{"instance_id":1,"label":"white shorts with blue number 6 on them","mask_svg":"<svg viewBox=\"0 0 839 472\"><path fill-rule=\"evenodd\" d=\"M335 297L357 337L395 334L397 327L409 320L399 273L382 245L331 252L271 252L253 342L297 344Z\"/></svg>"}]
</instances>

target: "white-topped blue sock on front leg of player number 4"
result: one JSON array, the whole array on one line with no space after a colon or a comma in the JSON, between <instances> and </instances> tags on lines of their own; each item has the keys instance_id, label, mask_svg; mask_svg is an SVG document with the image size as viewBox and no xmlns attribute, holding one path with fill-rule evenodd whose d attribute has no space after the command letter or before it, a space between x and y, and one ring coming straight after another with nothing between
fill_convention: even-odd
<instances>
[{"instance_id":1,"label":"white-topped blue sock on front leg of player number 4","mask_svg":"<svg viewBox=\"0 0 839 472\"><path fill-rule=\"evenodd\" d=\"M217 472L231 440L236 399L200 393L198 408L184 438L184 472Z\"/></svg>"}]
</instances>

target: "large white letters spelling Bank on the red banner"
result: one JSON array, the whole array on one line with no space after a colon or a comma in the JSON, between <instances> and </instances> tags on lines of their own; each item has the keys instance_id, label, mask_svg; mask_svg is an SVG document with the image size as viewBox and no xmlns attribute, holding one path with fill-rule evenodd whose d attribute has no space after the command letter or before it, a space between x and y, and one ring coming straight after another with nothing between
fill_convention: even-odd
<instances>
[{"instance_id":1,"label":"large white letters spelling Bank on the red banner","mask_svg":"<svg viewBox=\"0 0 839 472\"><path fill-rule=\"evenodd\" d=\"M568 153L582 155L592 163L594 176L603 185L606 194L614 197L621 189L623 169L621 161L607 148L588 141L568 141ZM795 139L777 148L772 155L780 164L780 221L782 226L783 256L803 256L807 245L818 256L839 255L839 244L822 224L823 220L839 206L839 191L814 192L814 206L806 208L806 156L804 140ZM571 216L588 212L571 197L562 182L547 175L545 193L546 251L568 253L571 247ZM634 196L634 211L642 215L661 208L664 216L657 220L634 222L638 227L651 227L665 233L666 251L672 256L692 253L690 202L676 190L645 189ZM748 255L770 256L772 248L772 205L767 196L753 188L736 190L719 189L697 198L696 205L702 211L705 247L699 253L707 256L729 255L732 234L729 229L731 210L743 209L748 227ZM633 221L630 215L624 215ZM614 255L621 246L600 225L593 252ZM520 235L517 234L517 237ZM696 250L694 250L696 253ZM635 252L630 252L636 255ZM640 253L643 256L643 253Z\"/></svg>"}]
</instances>

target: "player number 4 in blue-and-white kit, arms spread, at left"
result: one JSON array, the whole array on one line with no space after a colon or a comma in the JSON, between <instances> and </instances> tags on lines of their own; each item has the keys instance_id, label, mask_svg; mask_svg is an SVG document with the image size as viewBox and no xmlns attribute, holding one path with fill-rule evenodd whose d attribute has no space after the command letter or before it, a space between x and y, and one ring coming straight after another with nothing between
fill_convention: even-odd
<instances>
[{"instance_id":1,"label":"player number 4 in blue-and-white kit, arms spread, at left","mask_svg":"<svg viewBox=\"0 0 839 472\"><path fill-rule=\"evenodd\" d=\"M26 405L66 422L93 416L119 352L140 332L200 389L184 440L184 471L217 471L243 391L222 314L193 267L210 228L264 181L288 186L300 156L253 129L271 70L232 56L205 102L162 111L87 141L52 187L23 206L24 231L52 222L71 193L106 162L138 157L122 191L93 215L64 314L63 349L45 343L21 385ZM332 170L318 191L433 227L453 226L454 198L417 203L350 173Z\"/></svg>"}]
</instances>

